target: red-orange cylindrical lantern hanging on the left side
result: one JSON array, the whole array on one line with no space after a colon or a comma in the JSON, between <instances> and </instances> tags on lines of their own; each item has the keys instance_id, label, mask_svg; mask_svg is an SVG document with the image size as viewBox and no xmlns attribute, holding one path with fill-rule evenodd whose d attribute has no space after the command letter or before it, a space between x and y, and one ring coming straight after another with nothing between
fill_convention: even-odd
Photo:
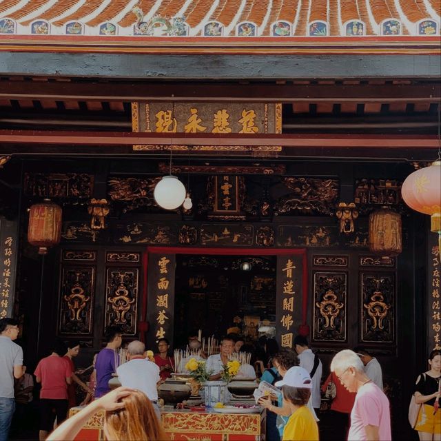
<instances>
[{"instance_id":1,"label":"red-orange cylindrical lantern hanging on the left side","mask_svg":"<svg viewBox=\"0 0 441 441\"><path fill-rule=\"evenodd\" d=\"M39 254L46 254L48 247L61 240L61 207L50 199L32 205L29 213L28 242L39 247Z\"/></svg>"}]
</instances>

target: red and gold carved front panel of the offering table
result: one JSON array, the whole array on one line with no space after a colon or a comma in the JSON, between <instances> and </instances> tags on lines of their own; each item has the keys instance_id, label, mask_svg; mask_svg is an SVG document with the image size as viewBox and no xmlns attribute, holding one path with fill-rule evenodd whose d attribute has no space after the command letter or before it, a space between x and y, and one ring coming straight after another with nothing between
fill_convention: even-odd
<instances>
[{"instance_id":1,"label":"red and gold carved front panel of the offering table","mask_svg":"<svg viewBox=\"0 0 441 441\"><path fill-rule=\"evenodd\" d=\"M260 434L260 414L167 412L162 420L164 429L172 432Z\"/></svg>"}]
</instances>

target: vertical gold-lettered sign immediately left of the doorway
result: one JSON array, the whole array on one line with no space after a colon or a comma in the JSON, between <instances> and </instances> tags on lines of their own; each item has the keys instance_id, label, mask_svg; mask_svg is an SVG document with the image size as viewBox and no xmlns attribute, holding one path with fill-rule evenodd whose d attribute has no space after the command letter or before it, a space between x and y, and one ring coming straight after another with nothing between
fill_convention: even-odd
<instances>
[{"instance_id":1,"label":"vertical gold-lettered sign immediately left of the doorway","mask_svg":"<svg viewBox=\"0 0 441 441\"><path fill-rule=\"evenodd\" d=\"M147 347L156 349L160 338L173 340L174 271L176 255L149 253L147 267Z\"/></svg>"}]
</instances>

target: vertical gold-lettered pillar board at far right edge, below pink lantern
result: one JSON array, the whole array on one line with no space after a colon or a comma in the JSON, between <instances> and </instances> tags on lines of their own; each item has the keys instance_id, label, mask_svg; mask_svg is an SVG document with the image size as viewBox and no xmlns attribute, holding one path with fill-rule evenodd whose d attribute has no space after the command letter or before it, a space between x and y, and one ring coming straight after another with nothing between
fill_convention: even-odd
<instances>
[{"instance_id":1,"label":"vertical gold-lettered pillar board at far right edge, below pink lantern","mask_svg":"<svg viewBox=\"0 0 441 441\"><path fill-rule=\"evenodd\" d=\"M429 238L429 286L427 287L427 342L429 352L441 350L441 256L438 236ZM428 353L429 353L428 352Z\"/></svg>"}]
</instances>

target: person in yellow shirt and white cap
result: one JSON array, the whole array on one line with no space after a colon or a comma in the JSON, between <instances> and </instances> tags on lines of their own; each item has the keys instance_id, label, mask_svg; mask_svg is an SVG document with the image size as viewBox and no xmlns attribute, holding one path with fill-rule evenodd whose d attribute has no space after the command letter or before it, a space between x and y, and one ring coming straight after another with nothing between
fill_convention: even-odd
<instances>
[{"instance_id":1,"label":"person in yellow shirt and white cap","mask_svg":"<svg viewBox=\"0 0 441 441\"><path fill-rule=\"evenodd\" d=\"M291 409L291 416L283 431L283 441L318 441L318 426L306 404L311 396L312 382L307 370L299 366L288 369L283 380L276 382L282 387L283 400Z\"/></svg>"}]
</instances>

